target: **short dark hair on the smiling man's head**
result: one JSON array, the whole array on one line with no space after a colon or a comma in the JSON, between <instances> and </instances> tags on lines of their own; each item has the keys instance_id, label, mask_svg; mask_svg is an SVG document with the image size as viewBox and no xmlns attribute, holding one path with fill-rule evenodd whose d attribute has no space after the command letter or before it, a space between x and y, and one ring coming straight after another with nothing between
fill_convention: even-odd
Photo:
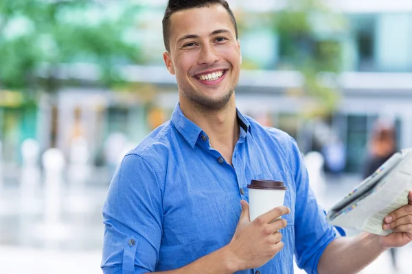
<instances>
[{"instance_id":1,"label":"short dark hair on the smiling man's head","mask_svg":"<svg viewBox=\"0 0 412 274\"><path fill-rule=\"evenodd\" d=\"M238 24L236 23L236 18L233 12L229 8L229 4L225 0L169 0L168 7L165 10L165 15L163 16L163 42L167 51L170 51L170 16L175 12L181 10L188 10L191 8L204 8L210 5L222 5L223 8L227 10L233 26L235 27L236 39L238 38Z\"/></svg>"}]
</instances>

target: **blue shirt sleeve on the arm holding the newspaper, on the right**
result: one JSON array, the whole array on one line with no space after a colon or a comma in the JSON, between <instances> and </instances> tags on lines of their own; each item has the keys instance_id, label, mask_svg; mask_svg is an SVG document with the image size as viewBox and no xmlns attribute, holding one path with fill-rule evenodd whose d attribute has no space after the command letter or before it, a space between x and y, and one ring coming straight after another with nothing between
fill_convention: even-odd
<instances>
[{"instance_id":1,"label":"blue shirt sleeve on the arm holding the newspaper, on the right","mask_svg":"<svg viewBox=\"0 0 412 274\"><path fill-rule=\"evenodd\" d=\"M299 268L317 274L319 259L329 243L336 238L332 225L328 224L323 209L318 205L310 189L304 160L294 142L295 183L295 256Z\"/></svg>"}]
</instances>

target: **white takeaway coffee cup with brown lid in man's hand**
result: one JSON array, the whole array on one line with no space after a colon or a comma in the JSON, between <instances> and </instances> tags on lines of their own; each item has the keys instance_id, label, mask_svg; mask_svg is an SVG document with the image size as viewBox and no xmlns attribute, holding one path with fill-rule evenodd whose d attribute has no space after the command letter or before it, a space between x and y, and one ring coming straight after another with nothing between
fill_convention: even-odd
<instances>
[{"instance_id":1,"label":"white takeaway coffee cup with brown lid in man's hand","mask_svg":"<svg viewBox=\"0 0 412 274\"><path fill-rule=\"evenodd\" d=\"M249 215L251 221L284 204L287 188L283 182L253 179L251 184L247 185L247 188L249 188Z\"/></svg>"}]
</instances>

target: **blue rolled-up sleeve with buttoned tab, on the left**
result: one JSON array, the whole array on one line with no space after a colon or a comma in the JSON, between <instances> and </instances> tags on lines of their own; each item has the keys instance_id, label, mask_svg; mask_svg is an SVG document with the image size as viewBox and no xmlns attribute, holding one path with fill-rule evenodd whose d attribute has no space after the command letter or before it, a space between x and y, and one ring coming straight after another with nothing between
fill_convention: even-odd
<instances>
[{"instance_id":1,"label":"blue rolled-up sleeve with buttoned tab, on the left","mask_svg":"<svg viewBox=\"0 0 412 274\"><path fill-rule=\"evenodd\" d=\"M124 157L103 206L104 273L155 271L162 235L162 188L155 169L136 154Z\"/></svg>"}]
</instances>

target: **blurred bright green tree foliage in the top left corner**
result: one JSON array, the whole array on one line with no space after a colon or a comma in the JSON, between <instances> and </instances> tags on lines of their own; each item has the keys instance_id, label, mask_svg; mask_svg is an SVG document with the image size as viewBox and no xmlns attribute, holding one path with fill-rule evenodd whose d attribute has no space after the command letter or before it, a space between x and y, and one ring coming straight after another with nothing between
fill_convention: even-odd
<instances>
[{"instance_id":1,"label":"blurred bright green tree foliage in the top left corner","mask_svg":"<svg viewBox=\"0 0 412 274\"><path fill-rule=\"evenodd\" d=\"M97 64L98 82L116 82L113 65L139 62L139 47L126 40L137 9L122 1L0 1L0 86L54 92L60 65L73 63Z\"/></svg>"}]
</instances>

